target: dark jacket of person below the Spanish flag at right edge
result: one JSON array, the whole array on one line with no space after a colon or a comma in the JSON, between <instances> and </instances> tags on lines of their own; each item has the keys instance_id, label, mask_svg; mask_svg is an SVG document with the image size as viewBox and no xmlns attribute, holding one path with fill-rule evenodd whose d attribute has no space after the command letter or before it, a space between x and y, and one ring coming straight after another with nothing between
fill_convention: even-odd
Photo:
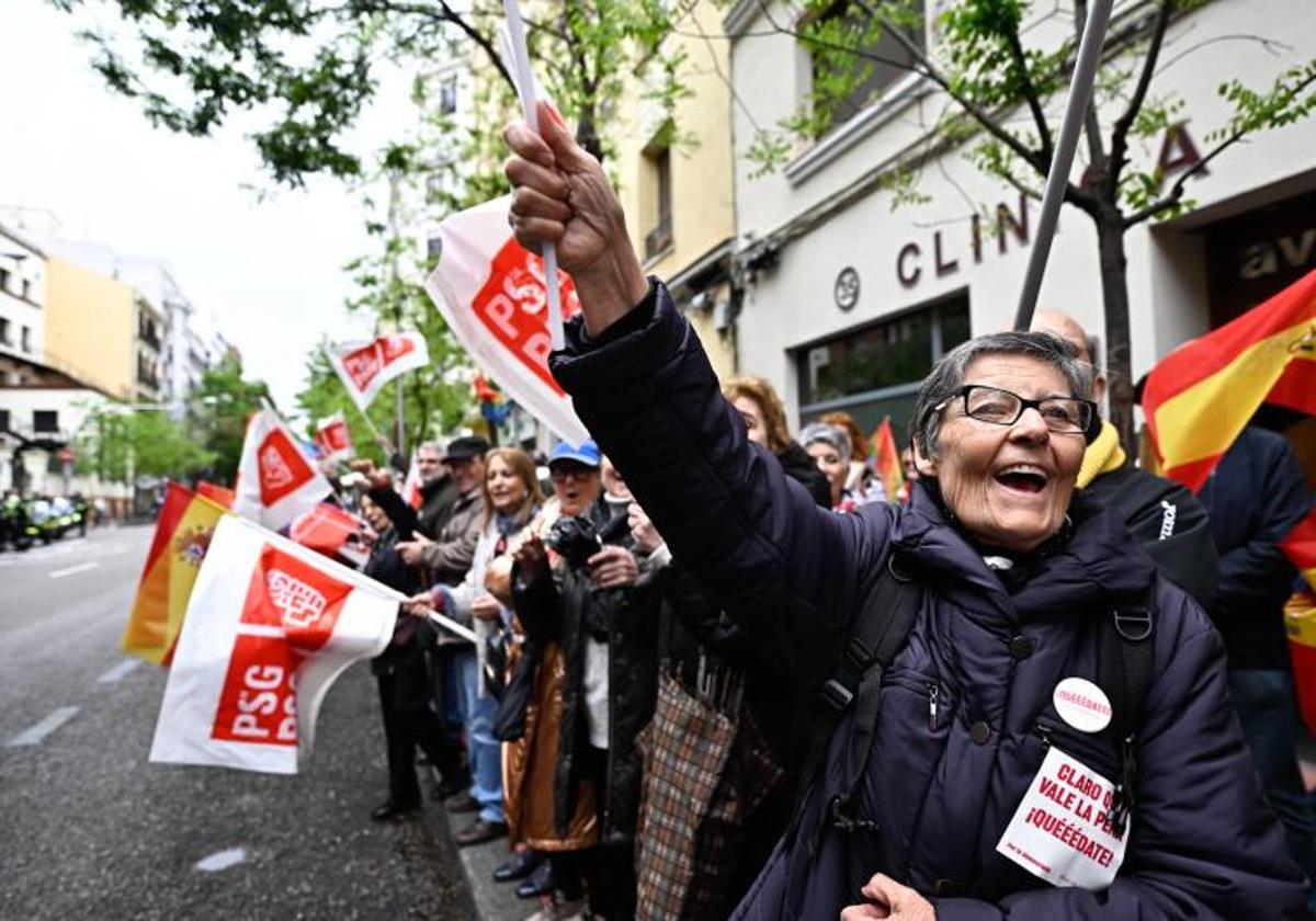
<instances>
[{"instance_id":1,"label":"dark jacket of person below the Spanish flag at right edge","mask_svg":"<svg viewBox=\"0 0 1316 921\"><path fill-rule=\"evenodd\" d=\"M1283 607L1298 571L1278 543L1311 507L1294 449L1274 432L1244 429L1198 495L1220 553L1209 610L1229 667L1288 670Z\"/></svg>"}]
</instances>

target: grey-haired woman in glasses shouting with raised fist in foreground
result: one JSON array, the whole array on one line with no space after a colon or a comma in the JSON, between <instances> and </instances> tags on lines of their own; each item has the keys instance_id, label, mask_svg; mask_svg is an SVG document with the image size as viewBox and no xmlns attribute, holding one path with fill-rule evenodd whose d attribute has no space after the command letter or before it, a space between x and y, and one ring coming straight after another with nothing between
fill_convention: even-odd
<instances>
[{"instance_id":1,"label":"grey-haired woman in glasses shouting with raised fist in foreground","mask_svg":"<svg viewBox=\"0 0 1316 921\"><path fill-rule=\"evenodd\" d=\"M1096 429L1069 347L959 346L917 400L911 503L821 510L746 438L597 163L540 124L508 129L507 174L517 239L557 243L583 305L554 375L674 555L838 714L738 914L1299 917L1219 637L1075 495Z\"/></svg>"}]
</instances>

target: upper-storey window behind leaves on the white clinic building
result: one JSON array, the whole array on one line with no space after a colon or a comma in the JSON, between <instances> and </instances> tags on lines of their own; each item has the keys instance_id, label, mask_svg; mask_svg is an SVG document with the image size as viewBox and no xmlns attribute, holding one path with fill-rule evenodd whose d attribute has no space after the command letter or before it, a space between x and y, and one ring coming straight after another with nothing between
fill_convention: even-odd
<instances>
[{"instance_id":1,"label":"upper-storey window behind leaves on the white clinic building","mask_svg":"<svg viewBox=\"0 0 1316 921\"><path fill-rule=\"evenodd\" d=\"M904 34L920 47L925 45L926 32L924 7L924 0L911 4L911 16L916 16L919 21L903 25ZM880 30L876 42L866 39L873 32L870 9L870 4L837 0L812 21L803 24L808 34L817 37L816 42L804 39L811 63L811 91L842 75L854 84L845 99L830 100L833 105L826 121L815 125L820 138L863 112L882 91L913 70L913 55L887 29ZM837 46L851 47L855 43L865 45L862 54L834 50Z\"/></svg>"}]
</instances>

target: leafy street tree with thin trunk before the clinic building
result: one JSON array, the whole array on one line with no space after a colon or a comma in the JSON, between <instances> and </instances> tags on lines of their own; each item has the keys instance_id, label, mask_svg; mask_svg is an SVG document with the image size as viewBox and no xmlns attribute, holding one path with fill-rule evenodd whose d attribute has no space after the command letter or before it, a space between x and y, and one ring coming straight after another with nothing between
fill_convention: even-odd
<instances>
[{"instance_id":1,"label":"leafy street tree with thin trunk before the clinic building","mask_svg":"<svg viewBox=\"0 0 1316 921\"><path fill-rule=\"evenodd\" d=\"M1166 34L1177 18L1211 0L1155 0L1117 16L1084 118L1083 175L1065 189L1065 203L1096 229L1105 308L1111 416L1126 450L1133 449L1133 388L1129 361L1129 292L1124 234L1145 221L1166 220L1192 207L1187 183L1258 132L1284 128L1316 108L1316 59L1275 74L1269 86L1248 87L1225 78L1219 93L1230 114L1216 126L1202 159L1166 187L1154 163L1138 162L1140 142L1165 134L1179 120L1183 100L1157 89L1169 66ZM876 66L921 75L941 91L944 114L925 141L886 176L896 203L920 201L921 168L959 149L984 174L1040 199L1058 130L1057 93L1069 86L1088 1L1073 4L1073 37L1054 46L1032 46L1023 26L1032 17L1026 0L958 0L938 25L941 42L929 54L921 30L923 4L909 0L800 0L799 14L772 28L800 41L813 57L813 91L799 112L762 129L750 158L759 170L783 164L799 138L815 138L845 105L855 103ZM1046 4L1050 7L1050 4ZM1057 8L1058 11L1059 8ZM838 14L841 11L841 14ZM1057 13L1058 14L1058 13ZM1267 39L1233 36L1233 41ZM1199 43L1200 45L1200 43ZM1177 50L1174 59L1199 46ZM869 93L861 103L869 103ZM1113 120L1109 113L1116 113Z\"/></svg>"}]
</instances>

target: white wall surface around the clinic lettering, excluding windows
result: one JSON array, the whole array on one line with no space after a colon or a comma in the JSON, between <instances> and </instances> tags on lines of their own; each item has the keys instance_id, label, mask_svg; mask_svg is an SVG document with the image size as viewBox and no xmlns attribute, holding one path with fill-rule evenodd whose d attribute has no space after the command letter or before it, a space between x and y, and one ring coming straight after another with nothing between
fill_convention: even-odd
<instances>
[{"instance_id":1,"label":"white wall surface around the clinic lettering, excluding windows","mask_svg":"<svg viewBox=\"0 0 1316 921\"><path fill-rule=\"evenodd\" d=\"M753 167L745 159L753 141L750 116L759 125L772 125L790 113L799 97L800 61L791 38L761 34L769 30L763 14L755 14L751 5L740 4L737 9L741 7L747 17L737 20L733 13L729 24L745 32L745 37L733 43L733 82L744 103L736 108L734 130L737 230L740 247L745 249L750 241L788 225L828 196L853 188L865 174L907 150L923 136L944 100L911 83L904 95L898 93L884 109L879 104L875 111L882 117L876 128L819 171L800 178L800 164L809 157L804 154L786 171L754 179L750 176ZM780 4L770 3L769 8L784 16ZM1228 112L1216 95L1221 79L1237 76L1265 88L1283 68L1305 61L1316 47L1313 12L1311 0L1217 0L1208 4L1171 29L1163 62L1190 46L1205 45L1173 64L1163 63L1153 92L1173 91L1183 97L1182 114L1204 153L1209 149L1208 133L1220 126ZM1057 24L1042 22L1038 29L1054 30ZM1277 38L1282 46L1267 50L1242 39L1209 42L1217 37L1255 34ZM1058 111L1059 103L1053 103L1053 108ZM1115 114L1115 111L1103 112L1107 134ZM1154 162L1158 151L1159 138L1142 143L1133 150L1134 162ZM1208 175L1190 183L1188 197L1196 208L1205 209L1261 186L1283 183L1313 167L1316 117L1257 136L1225 153L1211 164ZM917 188L930 201L904 205L895 212L888 192L869 193L788 242L780 251L779 264L754 279L738 321L741 367L769 376L782 389L792 412L797 409L796 382L787 353L811 341L965 287L975 334L1009 326L1026 247L1011 238L1007 251L1000 254L984 225L983 255L975 263L969 220L976 208L995 207L998 201L1017 212L1017 192L984 179L958 153L926 164ZM1030 203L1030 230L1036 229L1038 211L1037 203ZM945 261L958 259L959 263L958 271L940 278L933 266L938 232ZM896 263L901 247L911 242L921 249L923 275L917 284L904 286L896 278ZM1133 313L1132 359L1137 376L1175 345L1205 330L1203 257L1192 238L1153 233L1146 225L1132 229L1125 242ZM840 311L833 301L833 283L845 266L853 266L861 276L859 301L849 312ZM1071 208L1062 212L1040 303L1073 313L1094 332L1100 333L1104 326L1095 233L1090 220Z\"/></svg>"}]
</instances>

